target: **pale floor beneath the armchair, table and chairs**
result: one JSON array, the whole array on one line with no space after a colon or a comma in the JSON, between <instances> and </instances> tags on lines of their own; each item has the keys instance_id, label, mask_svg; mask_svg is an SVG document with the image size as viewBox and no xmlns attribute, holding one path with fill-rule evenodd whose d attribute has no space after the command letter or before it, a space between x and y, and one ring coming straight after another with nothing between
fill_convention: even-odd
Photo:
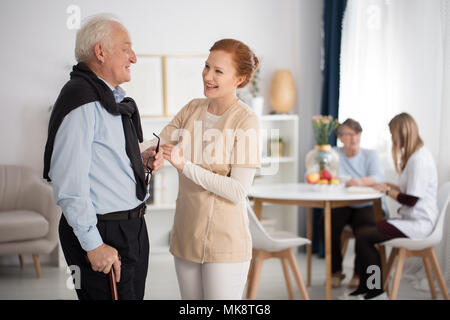
<instances>
[{"instance_id":1,"label":"pale floor beneath the armchair, table and chairs","mask_svg":"<svg viewBox=\"0 0 450 320\"><path fill-rule=\"evenodd\" d=\"M303 278L306 279L306 255L297 254L297 260ZM341 288L333 290L333 298L350 290L347 288L346 282L349 281L352 274L351 254L348 254L344 261L344 272L347 274L347 278L344 279ZM19 266L3 266L0 267L0 299L76 299L75 292L66 287L68 278L69 274L64 268L42 266L42 278L38 280L33 265L26 265L23 270ZM324 279L325 261L314 256L312 286L308 288L311 299L325 299ZM292 282L294 284L293 278ZM440 294L438 296L441 298ZM169 254L151 255L145 299L179 298L172 256ZM262 270L257 299L280 300L287 298L281 264L275 259L266 261ZM298 290L296 290L296 298L300 299ZM402 279L398 298L424 300L431 299L431 296L426 291L415 289L409 281Z\"/></svg>"}]
</instances>

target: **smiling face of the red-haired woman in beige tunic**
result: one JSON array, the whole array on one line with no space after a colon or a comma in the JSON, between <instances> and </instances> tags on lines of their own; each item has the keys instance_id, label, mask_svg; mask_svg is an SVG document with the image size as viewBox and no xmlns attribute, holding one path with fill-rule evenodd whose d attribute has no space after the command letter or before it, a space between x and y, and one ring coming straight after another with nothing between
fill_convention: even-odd
<instances>
[{"instance_id":1,"label":"smiling face of the red-haired woman in beige tunic","mask_svg":"<svg viewBox=\"0 0 450 320\"><path fill-rule=\"evenodd\" d=\"M202 72L203 92L207 98L220 98L235 94L245 79L236 75L233 55L223 50L211 51Z\"/></svg>"}]
</instances>

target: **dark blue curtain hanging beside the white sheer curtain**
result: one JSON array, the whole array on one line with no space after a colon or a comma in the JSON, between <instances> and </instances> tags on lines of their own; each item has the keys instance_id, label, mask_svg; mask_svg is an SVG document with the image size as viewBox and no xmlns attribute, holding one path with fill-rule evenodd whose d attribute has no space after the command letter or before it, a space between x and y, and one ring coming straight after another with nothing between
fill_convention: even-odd
<instances>
[{"instance_id":1,"label":"dark blue curtain hanging beside the white sheer curtain","mask_svg":"<svg viewBox=\"0 0 450 320\"><path fill-rule=\"evenodd\" d=\"M324 70L322 86L322 105L320 113L337 118L339 114L339 78L342 19L347 0L324 0L323 34L324 34ZM336 135L329 138L332 146L336 145ZM322 209L314 209L313 219L313 252L324 256L323 243L319 240L318 221L323 215Z\"/></svg>"}]
</instances>

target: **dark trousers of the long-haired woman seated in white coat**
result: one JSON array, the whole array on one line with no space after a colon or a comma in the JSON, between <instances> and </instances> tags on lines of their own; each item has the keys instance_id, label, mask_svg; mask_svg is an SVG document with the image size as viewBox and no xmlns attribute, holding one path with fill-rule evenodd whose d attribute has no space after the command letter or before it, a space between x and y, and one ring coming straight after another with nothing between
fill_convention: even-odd
<instances>
[{"instance_id":1,"label":"dark trousers of the long-haired woman seated in white coat","mask_svg":"<svg viewBox=\"0 0 450 320\"><path fill-rule=\"evenodd\" d=\"M377 266L378 270L380 270L380 279L383 279L381 257L377 248L375 248L375 244L394 238L406 237L405 234L386 220L378 222L375 226L364 226L356 230L355 251L358 257L359 269L361 270L359 273L359 292L383 292L382 284L380 288L371 289L367 285L367 280L372 275L367 273L369 266Z\"/></svg>"}]
</instances>

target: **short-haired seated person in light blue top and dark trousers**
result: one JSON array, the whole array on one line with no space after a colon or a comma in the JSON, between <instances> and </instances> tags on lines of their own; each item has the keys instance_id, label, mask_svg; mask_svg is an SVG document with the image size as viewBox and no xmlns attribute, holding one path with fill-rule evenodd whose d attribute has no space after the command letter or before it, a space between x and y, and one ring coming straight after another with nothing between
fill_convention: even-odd
<instances>
[{"instance_id":1,"label":"short-haired seated person in light blue top and dark trousers","mask_svg":"<svg viewBox=\"0 0 450 320\"><path fill-rule=\"evenodd\" d=\"M385 181L384 169L375 150L360 148L361 125L353 120L347 119L337 128L337 136L344 144L343 147L335 147L339 154L339 176L349 179L345 181L347 187L366 186L370 187L376 183ZM386 206L383 203L383 210ZM356 229L365 225L375 225L372 202L362 203L349 207L332 209L331 236L332 236L332 287L338 288L345 278L342 273L341 233L345 225L352 227L353 233ZM320 238L324 239L323 216L319 220ZM349 286L356 288L359 284L359 270L357 270L355 258L353 277Z\"/></svg>"}]
</instances>

